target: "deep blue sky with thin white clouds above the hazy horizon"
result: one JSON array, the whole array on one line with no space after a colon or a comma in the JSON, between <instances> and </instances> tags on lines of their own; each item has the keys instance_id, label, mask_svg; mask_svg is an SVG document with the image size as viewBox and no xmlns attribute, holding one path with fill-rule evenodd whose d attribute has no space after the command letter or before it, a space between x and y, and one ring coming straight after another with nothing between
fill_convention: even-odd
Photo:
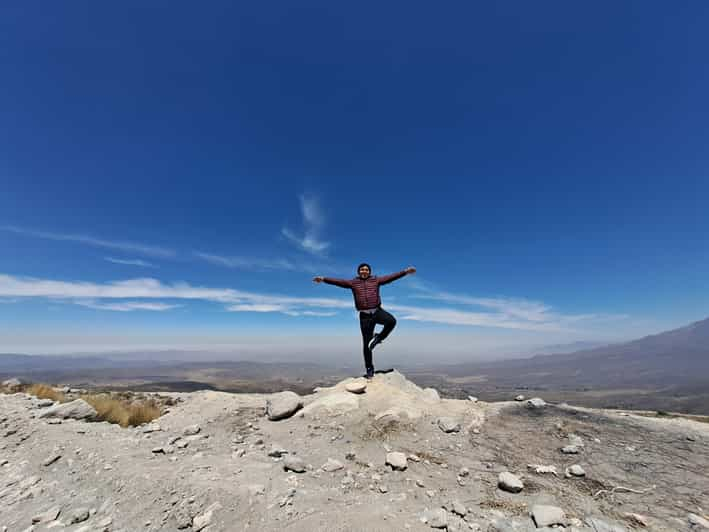
<instances>
[{"instance_id":1,"label":"deep blue sky with thin white clouds above the hazy horizon","mask_svg":"<svg viewBox=\"0 0 709 532\"><path fill-rule=\"evenodd\" d=\"M362 260L401 359L709 315L709 6L242 4L0 7L0 351L357 359Z\"/></svg>"}]
</instances>

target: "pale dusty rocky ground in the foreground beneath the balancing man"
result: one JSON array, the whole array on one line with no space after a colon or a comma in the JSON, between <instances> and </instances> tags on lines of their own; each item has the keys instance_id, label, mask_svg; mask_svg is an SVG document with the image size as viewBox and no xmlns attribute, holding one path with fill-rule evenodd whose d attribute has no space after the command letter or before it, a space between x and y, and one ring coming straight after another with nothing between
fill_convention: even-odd
<instances>
[{"instance_id":1,"label":"pale dusty rocky ground in the foreground beneath the balancing man","mask_svg":"<svg viewBox=\"0 0 709 532\"><path fill-rule=\"evenodd\" d=\"M363 384L166 394L137 428L0 395L0 531L709 529L707 424Z\"/></svg>"}]
</instances>

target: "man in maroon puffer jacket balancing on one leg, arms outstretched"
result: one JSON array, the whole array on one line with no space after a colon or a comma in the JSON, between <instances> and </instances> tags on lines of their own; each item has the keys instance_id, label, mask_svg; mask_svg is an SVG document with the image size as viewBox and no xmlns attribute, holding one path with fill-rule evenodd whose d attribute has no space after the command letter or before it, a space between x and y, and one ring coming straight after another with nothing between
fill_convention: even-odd
<instances>
[{"instance_id":1,"label":"man in maroon puffer jacket balancing on one leg, arms outstretched","mask_svg":"<svg viewBox=\"0 0 709 532\"><path fill-rule=\"evenodd\" d=\"M359 310L359 327L362 330L362 350L364 352L364 367L366 377L374 377L374 364L372 364L372 349L381 344L396 325L396 318L382 308L379 297L379 287L401 279L407 274L416 273L416 268L409 266L405 270L381 277L372 276L372 268L363 262L357 267L358 277L351 280L333 279L331 277L315 277L316 283L327 283L352 290L355 307ZM383 325L382 330L374 334L374 327Z\"/></svg>"}]
</instances>

